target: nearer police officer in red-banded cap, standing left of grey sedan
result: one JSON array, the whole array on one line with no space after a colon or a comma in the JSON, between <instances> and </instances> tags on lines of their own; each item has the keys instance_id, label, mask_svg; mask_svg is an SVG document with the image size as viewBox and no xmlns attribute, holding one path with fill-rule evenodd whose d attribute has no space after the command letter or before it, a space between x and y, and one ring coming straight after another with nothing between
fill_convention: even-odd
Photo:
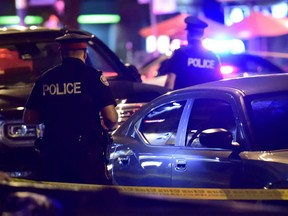
<instances>
[{"instance_id":1,"label":"nearer police officer in red-banded cap, standing left of grey sedan","mask_svg":"<svg viewBox=\"0 0 288 216\"><path fill-rule=\"evenodd\" d=\"M26 103L24 122L45 125L42 180L107 183L103 128L116 129L118 114L108 81L85 64L89 40L74 33L56 38L62 63L43 73Z\"/></svg>"}]
</instances>

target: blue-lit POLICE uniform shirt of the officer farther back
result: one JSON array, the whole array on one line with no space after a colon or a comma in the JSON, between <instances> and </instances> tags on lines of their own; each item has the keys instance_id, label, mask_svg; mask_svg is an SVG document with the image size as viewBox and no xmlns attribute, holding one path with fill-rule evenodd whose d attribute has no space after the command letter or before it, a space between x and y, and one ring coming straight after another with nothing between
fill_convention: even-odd
<instances>
[{"instance_id":1,"label":"blue-lit POLICE uniform shirt of the officer farther back","mask_svg":"<svg viewBox=\"0 0 288 216\"><path fill-rule=\"evenodd\" d=\"M175 73L174 89L222 79L218 56L204 49L200 42L175 50L165 72Z\"/></svg>"}]
</instances>

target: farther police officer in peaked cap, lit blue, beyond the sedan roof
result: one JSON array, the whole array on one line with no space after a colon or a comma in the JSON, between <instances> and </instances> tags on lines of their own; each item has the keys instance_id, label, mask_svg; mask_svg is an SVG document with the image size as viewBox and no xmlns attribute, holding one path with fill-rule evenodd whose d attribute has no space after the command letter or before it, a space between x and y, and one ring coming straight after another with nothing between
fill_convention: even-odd
<instances>
[{"instance_id":1,"label":"farther police officer in peaked cap, lit blue, beyond the sedan roof","mask_svg":"<svg viewBox=\"0 0 288 216\"><path fill-rule=\"evenodd\" d=\"M219 58L202 47L205 22L194 16L185 18L188 45L175 50L162 71L167 74L165 87L184 88L222 79Z\"/></svg>"}]
</instances>

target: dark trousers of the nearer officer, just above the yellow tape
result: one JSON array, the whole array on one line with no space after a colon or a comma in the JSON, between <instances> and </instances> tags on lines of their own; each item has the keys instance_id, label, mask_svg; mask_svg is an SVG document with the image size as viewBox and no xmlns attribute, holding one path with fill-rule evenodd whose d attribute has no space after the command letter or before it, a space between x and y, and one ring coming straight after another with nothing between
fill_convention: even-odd
<instances>
[{"instance_id":1,"label":"dark trousers of the nearer officer, just above the yellow tape","mask_svg":"<svg viewBox=\"0 0 288 216\"><path fill-rule=\"evenodd\" d=\"M71 141L69 143L70 147L59 143L58 146L62 147L51 149L51 146L55 147L55 143L53 143L41 152L42 180L108 184L100 146L83 148L81 145L76 145L77 148L73 148L75 143ZM49 146L49 143L46 145Z\"/></svg>"}]
</instances>

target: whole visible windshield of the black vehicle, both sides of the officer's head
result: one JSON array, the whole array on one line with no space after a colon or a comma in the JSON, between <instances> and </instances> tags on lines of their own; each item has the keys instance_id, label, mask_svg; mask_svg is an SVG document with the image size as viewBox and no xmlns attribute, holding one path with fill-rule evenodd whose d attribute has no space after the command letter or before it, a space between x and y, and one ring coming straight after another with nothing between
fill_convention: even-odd
<instances>
[{"instance_id":1,"label":"whole visible windshield of the black vehicle, both sides of the officer's head","mask_svg":"<svg viewBox=\"0 0 288 216\"><path fill-rule=\"evenodd\" d=\"M118 72L92 46L88 46L86 63L115 78ZM105 55L105 53L104 53ZM0 86L33 84L45 70L61 63L59 44L51 42L19 43L0 46Z\"/></svg>"}]
</instances>

